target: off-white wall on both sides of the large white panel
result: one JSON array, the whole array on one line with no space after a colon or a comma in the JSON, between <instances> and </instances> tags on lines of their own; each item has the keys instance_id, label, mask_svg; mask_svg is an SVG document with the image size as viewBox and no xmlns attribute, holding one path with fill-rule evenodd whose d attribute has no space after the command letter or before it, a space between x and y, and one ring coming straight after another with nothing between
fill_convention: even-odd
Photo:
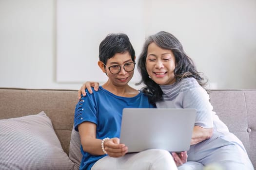
<instances>
[{"instance_id":1,"label":"off-white wall on both sides of the large white panel","mask_svg":"<svg viewBox=\"0 0 256 170\"><path fill-rule=\"evenodd\" d=\"M214 88L256 88L255 0L197 0L200 6L188 6L188 0L168 5L162 5L167 0L149 2L148 34L159 25L175 34ZM181 17L191 16L191 22L165 17L170 8ZM150 16L152 10L158 10L158 16ZM235 12L239 15L234 17ZM193 22L197 15L206 16L200 25ZM220 21L212 20L216 15ZM182 25L182 30L175 24ZM212 34L214 38L208 39ZM207 48L202 49L205 43ZM192 44L197 48L190 48ZM0 87L78 89L81 82L56 81L56 1L0 0Z\"/></svg>"}]
</instances>

